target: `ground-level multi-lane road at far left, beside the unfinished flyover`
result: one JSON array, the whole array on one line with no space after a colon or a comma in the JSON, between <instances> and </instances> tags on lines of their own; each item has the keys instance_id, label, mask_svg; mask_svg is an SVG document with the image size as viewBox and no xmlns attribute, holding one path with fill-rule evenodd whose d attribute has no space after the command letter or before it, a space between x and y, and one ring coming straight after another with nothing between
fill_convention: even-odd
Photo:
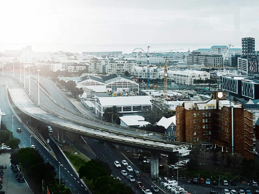
<instances>
[{"instance_id":1,"label":"ground-level multi-lane road at far left, beside the unfinished flyover","mask_svg":"<svg viewBox=\"0 0 259 194\"><path fill-rule=\"evenodd\" d=\"M8 79L8 84L19 87L20 84L18 81L13 79ZM8 98L6 96L6 88L7 86L2 86L3 83L6 83L4 79L0 78L0 107L2 112L6 113L6 116L2 116L2 120L8 129L12 129L12 115L15 115L12 108L8 103ZM19 119L14 116L13 117L13 132L14 137L19 138L21 141L20 147L29 147L30 146L30 136L32 133L19 121ZM21 128L21 132L16 132L16 128ZM40 151L40 154L44 158L45 162L50 162L56 168L56 173L59 176L59 165L63 164L64 167L61 166L60 174L62 180L66 183L66 186L70 187L73 193L88 193L85 191L84 186L81 186L81 181L69 165L63 154L60 150L54 145L54 143L50 141L50 146L52 147L57 160L46 150L46 148L33 136L31 137L31 145L35 145L36 149ZM57 176L57 177L58 177ZM79 182L79 183L78 183Z\"/></svg>"}]
</instances>

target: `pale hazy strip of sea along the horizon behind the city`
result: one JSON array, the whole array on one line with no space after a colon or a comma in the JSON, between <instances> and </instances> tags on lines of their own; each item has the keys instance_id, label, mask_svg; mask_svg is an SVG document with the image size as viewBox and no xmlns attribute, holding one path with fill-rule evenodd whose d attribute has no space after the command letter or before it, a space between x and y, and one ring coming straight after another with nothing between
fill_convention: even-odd
<instances>
[{"instance_id":1,"label":"pale hazy strip of sea along the horizon behind the city","mask_svg":"<svg viewBox=\"0 0 259 194\"><path fill-rule=\"evenodd\" d=\"M234 48L241 48L240 43L232 43ZM0 52L5 50L21 50L26 45L32 45L33 51L67 51L71 53L82 54L82 51L122 51L122 53L131 53L135 48L142 48L147 51L150 46L150 52L170 49L180 49L179 52L196 50L198 48L210 48L212 45L226 44L211 44L211 43L156 43L156 44L60 44L60 43L24 43L24 44L0 44ZM177 50L176 50L177 51Z\"/></svg>"}]
</instances>

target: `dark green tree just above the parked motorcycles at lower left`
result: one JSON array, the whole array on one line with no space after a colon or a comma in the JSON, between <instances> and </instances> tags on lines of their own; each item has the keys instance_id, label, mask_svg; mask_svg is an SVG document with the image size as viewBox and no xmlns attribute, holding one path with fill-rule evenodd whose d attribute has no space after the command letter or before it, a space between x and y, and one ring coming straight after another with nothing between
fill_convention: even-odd
<instances>
[{"instance_id":1,"label":"dark green tree just above the parked motorcycles at lower left","mask_svg":"<svg viewBox=\"0 0 259 194\"><path fill-rule=\"evenodd\" d=\"M11 163L19 164L23 166L23 168L28 168L36 163L44 162L44 159L40 155L39 151L34 148L21 148L18 152L13 153L11 155Z\"/></svg>"}]
</instances>

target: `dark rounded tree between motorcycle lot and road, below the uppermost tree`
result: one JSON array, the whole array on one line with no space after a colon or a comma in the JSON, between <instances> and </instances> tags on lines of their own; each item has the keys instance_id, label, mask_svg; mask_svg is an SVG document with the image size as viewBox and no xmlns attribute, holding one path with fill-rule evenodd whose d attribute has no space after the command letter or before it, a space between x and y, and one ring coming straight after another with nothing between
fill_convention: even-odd
<instances>
[{"instance_id":1,"label":"dark rounded tree between motorcycle lot and road, below the uppermost tree","mask_svg":"<svg viewBox=\"0 0 259 194\"><path fill-rule=\"evenodd\" d=\"M41 184L42 180L44 180L47 185L51 184L56 176L55 167L49 162L33 164L28 168L28 174L37 184Z\"/></svg>"}]
</instances>

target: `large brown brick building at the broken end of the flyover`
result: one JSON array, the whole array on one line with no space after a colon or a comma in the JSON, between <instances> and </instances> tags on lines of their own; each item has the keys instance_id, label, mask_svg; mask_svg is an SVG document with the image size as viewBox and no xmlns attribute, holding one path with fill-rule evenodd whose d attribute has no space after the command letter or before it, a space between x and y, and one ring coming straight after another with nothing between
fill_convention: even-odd
<instances>
[{"instance_id":1,"label":"large brown brick building at the broken end of the flyover","mask_svg":"<svg viewBox=\"0 0 259 194\"><path fill-rule=\"evenodd\" d=\"M233 107L233 123L232 123ZM193 148L217 148L253 159L253 114L226 99L226 92L214 92L210 100L185 102L176 107L176 141Z\"/></svg>"}]
</instances>

